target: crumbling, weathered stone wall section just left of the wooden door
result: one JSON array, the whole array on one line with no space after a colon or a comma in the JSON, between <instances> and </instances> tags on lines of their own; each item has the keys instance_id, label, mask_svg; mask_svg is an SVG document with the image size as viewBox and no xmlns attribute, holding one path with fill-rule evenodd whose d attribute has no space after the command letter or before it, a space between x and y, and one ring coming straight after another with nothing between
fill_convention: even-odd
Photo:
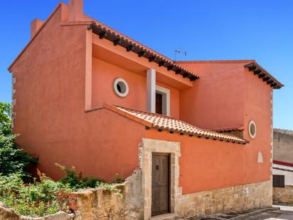
<instances>
[{"instance_id":1,"label":"crumbling, weathered stone wall section just left of the wooden door","mask_svg":"<svg viewBox=\"0 0 293 220\"><path fill-rule=\"evenodd\" d=\"M122 195L105 189L86 189L70 196L70 209L80 219L143 219L142 172L137 170L124 184Z\"/></svg>"}]
</instances>

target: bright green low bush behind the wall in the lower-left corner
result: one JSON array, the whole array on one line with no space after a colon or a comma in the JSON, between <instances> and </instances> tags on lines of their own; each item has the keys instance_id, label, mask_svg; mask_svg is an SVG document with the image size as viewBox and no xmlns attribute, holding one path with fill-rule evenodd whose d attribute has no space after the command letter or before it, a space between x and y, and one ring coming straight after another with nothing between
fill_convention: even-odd
<instances>
[{"instance_id":1,"label":"bright green low bush behind the wall in the lower-left corner","mask_svg":"<svg viewBox=\"0 0 293 220\"><path fill-rule=\"evenodd\" d=\"M41 176L41 182L24 184L21 174L0 176L0 202L26 216L44 216L66 211L72 189Z\"/></svg>"}]
</instances>

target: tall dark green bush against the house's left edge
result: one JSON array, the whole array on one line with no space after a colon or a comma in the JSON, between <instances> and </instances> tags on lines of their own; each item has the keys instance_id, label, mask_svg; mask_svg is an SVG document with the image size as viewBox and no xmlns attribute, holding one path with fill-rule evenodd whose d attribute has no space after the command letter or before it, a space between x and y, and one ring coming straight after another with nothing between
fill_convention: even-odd
<instances>
[{"instance_id":1,"label":"tall dark green bush against the house's left edge","mask_svg":"<svg viewBox=\"0 0 293 220\"><path fill-rule=\"evenodd\" d=\"M25 172L25 168L28 164L36 164L38 159L19 149L16 137L11 132L11 105L0 103L0 173L9 175L18 172L28 182L31 175Z\"/></svg>"}]
</instances>

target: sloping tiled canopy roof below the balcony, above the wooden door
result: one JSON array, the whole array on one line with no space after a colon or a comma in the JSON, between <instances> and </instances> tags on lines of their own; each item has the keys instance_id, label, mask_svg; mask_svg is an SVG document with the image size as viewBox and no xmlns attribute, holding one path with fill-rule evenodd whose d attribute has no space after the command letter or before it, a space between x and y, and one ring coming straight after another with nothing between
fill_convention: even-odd
<instances>
[{"instance_id":1,"label":"sloping tiled canopy roof below the balcony, above the wooden door","mask_svg":"<svg viewBox=\"0 0 293 220\"><path fill-rule=\"evenodd\" d=\"M189 135L191 137L206 137L206 139L211 138L213 140L233 142L244 145L248 143L247 140L241 139L240 137L225 135L223 133L213 132L210 130L203 130L166 115L159 115L142 110L134 110L132 108L124 108L109 104L104 104L104 107L145 125L147 129L155 128L159 131L168 130L171 133L176 132L181 135Z\"/></svg>"}]
</instances>

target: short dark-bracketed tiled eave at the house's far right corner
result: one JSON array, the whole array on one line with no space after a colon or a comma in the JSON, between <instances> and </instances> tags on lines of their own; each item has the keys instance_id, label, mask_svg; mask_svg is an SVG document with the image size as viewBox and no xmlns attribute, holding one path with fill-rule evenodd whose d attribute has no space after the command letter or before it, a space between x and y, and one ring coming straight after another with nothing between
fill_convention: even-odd
<instances>
[{"instance_id":1,"label":"short dark-bracketed tiled eave at the house's far right corner","mask_svg":"<svg viewBox=\"0 0 293 220\"><path fill-rule=\"evenodd\" d=\"M262 78L262 80L264 82L267 82L267 84L270 85L272 88L279 89L284 86L276 78L270 75L267 70L262 68L260 64L256 62L246 64L244 67L248 68L248 70L252 71L255 75L258 75L259 78Z\"/></svg>"}]
</instances>

